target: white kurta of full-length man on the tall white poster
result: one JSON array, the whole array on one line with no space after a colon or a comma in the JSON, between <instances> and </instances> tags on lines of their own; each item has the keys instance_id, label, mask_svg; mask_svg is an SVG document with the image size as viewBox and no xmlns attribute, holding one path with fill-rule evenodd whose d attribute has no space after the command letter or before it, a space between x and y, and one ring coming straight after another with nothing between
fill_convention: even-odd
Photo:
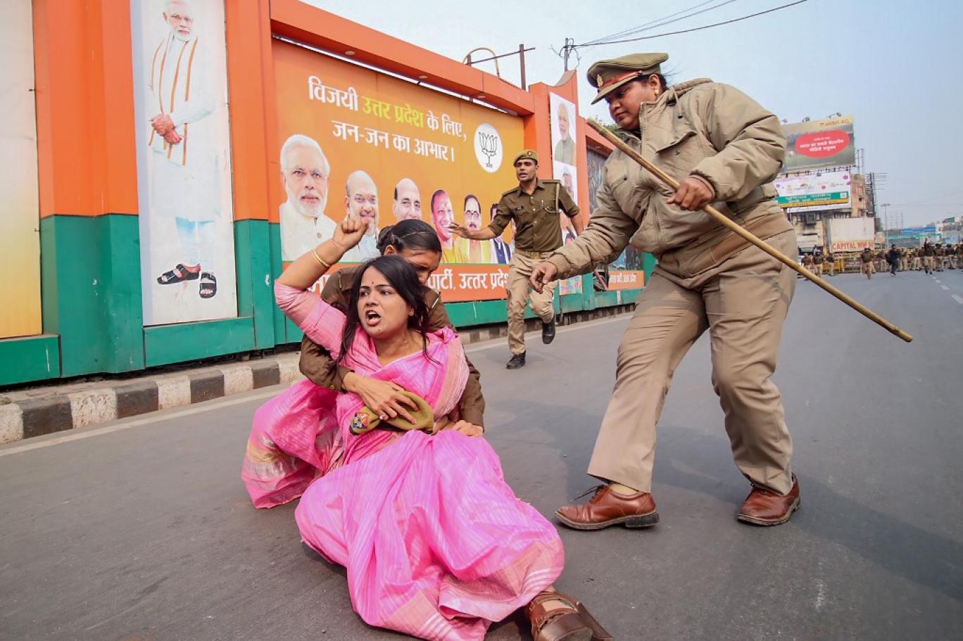
<instances>
[{"instance_id":1,"label":"white kurta of full-length man on the tall white poster","mask_svg":"<svg viewBox=\"0 0 963 641\"><path fill-rule=\"evenodd\" d=\"M171 33L157 45L150 64L149 115L167 114L182 140L169 144L152 128L151 214L213 220L221 212L221 185L214 123L216 87L199 38Z\"/></svg>"}]
</instances>

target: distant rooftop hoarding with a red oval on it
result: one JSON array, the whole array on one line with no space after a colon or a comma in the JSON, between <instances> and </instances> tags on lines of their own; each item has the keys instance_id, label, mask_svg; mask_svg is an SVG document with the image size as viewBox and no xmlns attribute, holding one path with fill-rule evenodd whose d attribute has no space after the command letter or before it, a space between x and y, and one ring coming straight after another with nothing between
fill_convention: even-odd
<instances>
[{"instance_id":1,"label":"distant rooftop hoarding with a red oval on it","mask_svg":"<svg viewBox=\"0 0 963 641\"><path fill-rule=\"evenodd\" d=\"M856 164L852 116L783 125L786 160L783 171Z\"/></svg>"}]
</instances>

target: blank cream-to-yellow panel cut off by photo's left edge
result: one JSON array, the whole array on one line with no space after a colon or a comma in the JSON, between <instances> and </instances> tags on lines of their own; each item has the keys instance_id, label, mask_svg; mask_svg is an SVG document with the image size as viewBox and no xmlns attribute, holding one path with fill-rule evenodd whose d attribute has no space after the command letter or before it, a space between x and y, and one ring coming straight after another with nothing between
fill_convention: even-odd
<instances>
[{"instance_id":1,"label":"blank cream-to-yellow panel cut off by photo's left edge","mask_svg":"<svg viewBox=\"0 0 963 641\"><path fill-rule=\"evenodd\" d=\"M40 321L40 237L34 30L29 2L4 7L0 75L0 339L34 336Z\"/></svg>"}]
</instances>

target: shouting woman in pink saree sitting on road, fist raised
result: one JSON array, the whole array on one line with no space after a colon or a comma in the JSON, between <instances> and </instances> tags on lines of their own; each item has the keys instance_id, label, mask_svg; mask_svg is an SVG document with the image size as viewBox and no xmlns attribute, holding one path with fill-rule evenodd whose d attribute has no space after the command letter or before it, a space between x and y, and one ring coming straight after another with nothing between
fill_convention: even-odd
<instances>
[{"instance_id":1,"label":"shouting woman in pink saree sitting on road, fist raised","mask_svg":"<svg viewBox=\"0 0 963 641\"><path fill-rule=\"evenodd\" d=\"M322 430L330 447L319 449L321 475L295 512L301 538L347 568L351 603L373 626L474 640L526 607L537 641L611 638L552 588L564 559L555 527L515 497L481 427L457 416L464 351L452 329L427 331L414 269L390 256L367 263L347 314L305 291L364 229L346 219L334 239L286 269L274 288L278 305L351 370L424 398L433 425L355 435L364 403L339 394L333 425Z\"/></svg>"}]
</instances>

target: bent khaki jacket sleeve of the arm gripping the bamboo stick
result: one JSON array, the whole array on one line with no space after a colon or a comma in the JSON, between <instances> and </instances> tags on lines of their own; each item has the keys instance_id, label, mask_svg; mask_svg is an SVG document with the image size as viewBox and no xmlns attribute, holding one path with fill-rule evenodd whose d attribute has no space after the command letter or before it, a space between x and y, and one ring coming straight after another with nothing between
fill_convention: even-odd
<instances>
[{"instance_id":1,"label":"bent khaki jacket sleeve of the arm gripping the bamboo stick","mask_svg":"<svg viewBox=\"0 0 963 641\"><path fill-rule=\"evenodd\" d=\"M716 200L744 198L772 182L786 155L779 118L729 85L713 84L698 105L709 140L720 151L692 169L716 189Z\"/></svg>"}]
</instances>

